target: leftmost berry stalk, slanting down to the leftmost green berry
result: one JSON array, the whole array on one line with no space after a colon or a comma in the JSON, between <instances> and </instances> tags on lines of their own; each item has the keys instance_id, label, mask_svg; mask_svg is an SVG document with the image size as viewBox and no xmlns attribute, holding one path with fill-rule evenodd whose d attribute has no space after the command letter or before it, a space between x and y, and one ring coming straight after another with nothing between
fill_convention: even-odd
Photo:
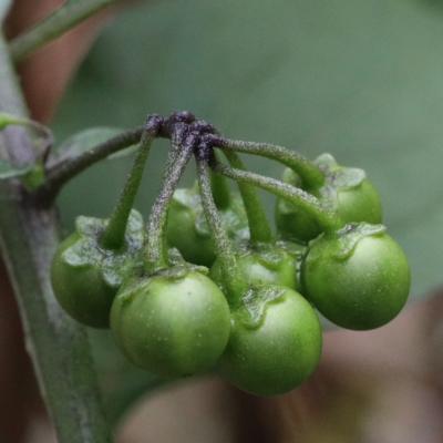
<instances>
[{"instance_id":1,"label":"leftmost berry stalk, slanting down to the leftmost green berry","mask_svg":"<svg viewBox=\"0 0 443 443\"><path fill-rule=\"evenodd\" d=\"M119 203L110 218L110 222L100 239L101 246L105 249L119 249L124 245L127 220L134 204L140 182L142 181L143 171L151 145L156 137L161 120L157 116L150 116L146 121L145 131L143 132L140 147L135 155L130 176L127 177L125 187L120 195Z\"/></svg>"}]
</instances>

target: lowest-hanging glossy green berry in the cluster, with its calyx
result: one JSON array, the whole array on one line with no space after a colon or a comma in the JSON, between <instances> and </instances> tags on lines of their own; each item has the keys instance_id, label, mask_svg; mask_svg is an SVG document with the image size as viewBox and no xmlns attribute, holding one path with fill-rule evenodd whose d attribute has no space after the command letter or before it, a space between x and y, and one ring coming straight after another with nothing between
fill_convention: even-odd
<instances>
[{"instance_id":1,"label":"lowest-hanging glossy green berry in the cluster, with its calyx","mask_svg":"<svg viewBox=\"0 0 443 443\"><path fill-rule=\"evenodd\" d=\"M249 291L233 311L233 330L219 361L222 374L255 395L279 395L317 367L322 334L310 303L289 288Z\"/></svg>"}]
</instances>

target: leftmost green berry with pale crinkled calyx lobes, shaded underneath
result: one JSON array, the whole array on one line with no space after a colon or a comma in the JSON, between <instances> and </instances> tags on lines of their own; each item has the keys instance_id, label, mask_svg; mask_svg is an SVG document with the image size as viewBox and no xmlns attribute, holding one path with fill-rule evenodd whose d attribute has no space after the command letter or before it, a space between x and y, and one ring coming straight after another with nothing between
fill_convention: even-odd
<instances>
[{"instance_id":1,"label":"leftmost green berry with pale crinkled calyx lobes, shaded underneath","mask_svg":"<svg viewBox=\"0 0 443 443\"><path fill-rule=\"evenodd\" d=\"M143 246L144 223L136 210L131 213L121 250L100 246L105 226L100 218L78 217L76 230L60 244L51 265L52 289L60 306L92 328L109 328L112 301Z\"/></svg>"}]
</instances>

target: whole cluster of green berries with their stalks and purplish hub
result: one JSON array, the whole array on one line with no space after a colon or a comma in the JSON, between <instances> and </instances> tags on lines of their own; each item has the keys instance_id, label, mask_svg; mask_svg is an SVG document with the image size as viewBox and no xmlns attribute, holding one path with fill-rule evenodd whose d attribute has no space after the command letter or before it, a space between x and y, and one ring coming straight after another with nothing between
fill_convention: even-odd
<instances>
[{"instance_id":1,"label":"whole cluster of green berries with their stalks and purplish hub","mask_svg":"<svg viewBox=\"0 0 443 443\"><path fill-rule=\"evenodd\" d=\"M155 137L172 143L145 225L132 205ZM236 152L289 168L282 181L253 174ZM198 181L177 188L192 156ZM276 235L256 187L277 196ZM281 394L319 361L316 310L340 327L368 330L403 308L409 266L381 218L364 172L329 154L309 162L278 146L224 138L187 112L152 115L113 215L78 218L54 256L52 286L70 316L110 327L121 352L153 374L216 369L246 392Z\"/></svg>"}]
</instances>

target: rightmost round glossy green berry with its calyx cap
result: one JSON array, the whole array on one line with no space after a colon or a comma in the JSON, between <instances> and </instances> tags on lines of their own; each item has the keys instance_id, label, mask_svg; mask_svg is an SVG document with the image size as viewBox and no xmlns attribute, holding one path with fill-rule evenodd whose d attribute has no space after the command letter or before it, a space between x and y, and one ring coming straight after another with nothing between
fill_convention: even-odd
<instances>
[{"instance_id":1,"label":"rightmost round glossy green berry with its calyx cap","mask_svg":"<svg viewBox=\"0 0 443 443\"><path fill-rule=\"evenodd\" d=\"M368 330L391 321L410 291L410 269L382 225L350 224L309 245L301 279L309 300L330 321Z\"/></svg>"}]
</instances>

